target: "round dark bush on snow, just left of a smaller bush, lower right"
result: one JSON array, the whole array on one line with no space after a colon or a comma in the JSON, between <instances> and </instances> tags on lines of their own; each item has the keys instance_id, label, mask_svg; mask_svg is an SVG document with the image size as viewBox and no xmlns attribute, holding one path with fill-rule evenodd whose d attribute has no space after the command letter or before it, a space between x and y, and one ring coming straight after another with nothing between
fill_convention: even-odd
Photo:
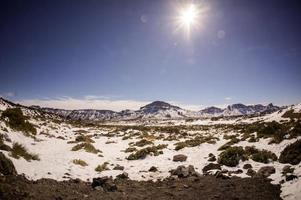
<instances>
[{"instance_id":1,"label":"round dark bush on snow, just left of a smaller bush, lower right","mask_svg":"<svg viewBox=\"0 0 301 200\"><path fill-rule=\"evenodd\" d=\"M219 155L218 163L235 167L240 160L245 160L245 151L242 147L229 147Z\"/></svg>"}]
</instances>

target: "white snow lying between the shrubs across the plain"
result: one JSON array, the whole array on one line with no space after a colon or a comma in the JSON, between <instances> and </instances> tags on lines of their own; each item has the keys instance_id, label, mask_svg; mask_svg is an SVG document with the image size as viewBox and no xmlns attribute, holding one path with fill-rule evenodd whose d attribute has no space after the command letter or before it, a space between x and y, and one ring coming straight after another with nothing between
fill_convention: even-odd
<instances>
[{"instance_id":1,"label":"white snow lying between the shrubs across the plain","mask_svg":"<svg viewBox=\"0 0 301 200\"><path fill-rule=\"evenodd\" d=\"M220 119L212 121L210 119L204 120L170 120L150 123L151 125L156 124L157 126L167 125L214 125L214 124L236 124L236 123L252 123L254 121L281 121L287 120L282 117L283 113L292 108L287 108L281 112L275 112L269 115L254 117L254 118L235 118L235 119ZM300 109L301 104L298 104L293 109ZM299 112L300 112L299 110ZM14 142L18 142L24 145L30 153L38 154L39 161L26 161L23 158L15 159L11 157L7 151L1 151L8 156L14 163L17 172L23 173L29 179L40 179L40 178L52 178L56 180L64 180L68 178L79 178L82 180L91 181L92 178L97 176L116 176L121 173L120 170L113 170L114 166L124 166L125 172L129 174L129 177L133 180L156 180L165 178L170 175L169 171L175 169L179 165L193 165L196 171L202 173L204 166L209 164L208 154L212 153L218 157L220 151L218 148L228 142L223 136L225 134L236 134L236 132L223 132L222 129L209 129L209 130L197 130L188 131L190 135L188 138L193 138L197 135L212 135L217 137L218 140L215 144L203 143L196 147L186 147L178 151L175 150L175 143L179 141L165 141L165 140L153 140L154 145L167 144L167 148L163 149L163 154L158 156L148 155L145 159L141 160L127 160L126 157L130 153L125 153L131 142L136 142L139 139L136 137L123 139L123 136L129 135L134 130L117 131L114 126L112 127L73 127L66 123L54 123L51 121L43 122L39 120L31 119L31 122L38 126L38 134L35 138L25 136L21 132L16 132L6 126L3 121L0 121L0 133L6 135L9 140L5 141L5 144L12 146ZM126 122L123 122L125 124ZM131 125L137 125L139 123L131 122ZM128 125L129 125L128 124ZM116 123L115 123L116 125ZM5 131L7 130L7 131ZM84 135L92 136L91 139L95 141L93 145L96 149L102 151L102 153L93 154L85 152L84 150L72 151L72 147L76 143L70 143L74 141L78 132L85 132ZM137 131L137 130L136 130ZM143 131L137 131L142 134ZM106 135L110 133L110 135ZM154 133L159 134L159 133ZM165 137L168 133L161 133ZM60 138L59 138L60 137ZM187 138L186 138L187 139ZM301 139L300 137L298 139ZM183 141L181 138L180 141ZM270 139L260 139L258 142L249 143L247 141L241 141L236 143L234 146L255 146L258 149L266 149L274 152L278 157L281 151L288 145L297 140L297 138L291 140L284 140L279 144L269 144ZM69 142L69 143L68 143ZM102 156L99 156L99 155ZM187 155L188 158L185 162L174 162L173 156L177 154ZM85 161L88 166L80 166L74 164L74 159L81 159ZM103 172L95 171L98 165L108 162L109 169ZM281 164L279 162L272 162L269 164L263 164L255 162L251 159L240 162L236 167L225 167L222 169L228 169L234 171L237 169L243 169L243 165L249 163L253 166L255 171L259 170L262 166L274 166L276 173L272 174L270 178L273 180L272 183L279 184L285 177L282 175L282 169L287 164ZM155 166L158 168L157 172L149 172L148 170ZM301 164L293 166L295 168L294 174L301 177ZM243 173L235 174L236 176L248 177L246 175L247 170L243 169ZM282 193L281 196L286 200L297 200L301 199L301 179L294 179L287 181L281 185Z\"/></svg>"}]
</instances>

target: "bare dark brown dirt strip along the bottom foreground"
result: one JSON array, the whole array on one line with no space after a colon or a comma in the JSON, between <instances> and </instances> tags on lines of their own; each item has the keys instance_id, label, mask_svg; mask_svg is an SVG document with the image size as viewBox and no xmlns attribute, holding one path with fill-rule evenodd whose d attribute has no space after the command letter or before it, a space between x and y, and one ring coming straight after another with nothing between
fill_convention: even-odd
<instances>
[{"instance_id":1,"label":"bare dark brown dirt strip along the bottom foreground","mask_svg":"<svg viewBox=\"0 0 301 200\"><path fill-rule=\"evenodd\" d=\"M0 178L0 199L223 199L223 200L277 200L280 186L256 178L221 179L214 176L200 178L166 179L163 181L115 180L117 191L93 189L91 183L80 180L29 181L23 176Z\"/></svg>"}]
</instances>

